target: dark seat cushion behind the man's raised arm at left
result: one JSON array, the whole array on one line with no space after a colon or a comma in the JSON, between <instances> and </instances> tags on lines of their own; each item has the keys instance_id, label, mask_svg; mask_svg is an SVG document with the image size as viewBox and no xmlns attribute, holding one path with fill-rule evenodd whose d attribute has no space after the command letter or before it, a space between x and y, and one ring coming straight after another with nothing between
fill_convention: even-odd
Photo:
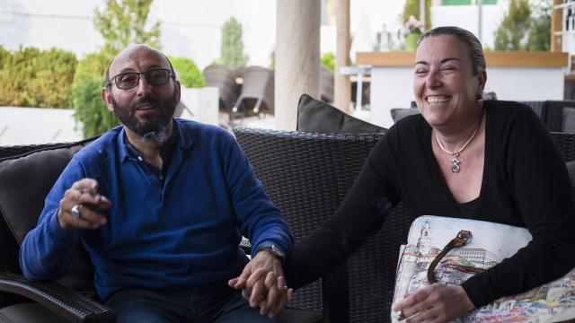
<instances>
[{"instance_id":1,"label":"dark seat cushion behind the man's raised arm at left","mask_svg":"<svg viewBox=\"0 0 575 323\"><path fill-rule=\"evenodd\" d=\"M56 179L85 144L49 146L0 159L0 212L19 244L38 223L44 200ZM79 246L64 278L58 281L76 290L93 289L93 266Z\"/></svg>"}]
</instances>

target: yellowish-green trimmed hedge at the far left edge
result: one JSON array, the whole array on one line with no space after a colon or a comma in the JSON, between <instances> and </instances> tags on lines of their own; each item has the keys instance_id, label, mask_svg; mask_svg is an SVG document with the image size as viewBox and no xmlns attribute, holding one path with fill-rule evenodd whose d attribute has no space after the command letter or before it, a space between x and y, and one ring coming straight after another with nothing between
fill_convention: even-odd
<instances>
[{"instance_id":1,"label":"yellowish-green trimmed hedge at the far left edge","mask_svg":"<svg viewBox=\"0 0 575 323\"><path fill-rule=\"evenodd\" d=\"M0 46L0 106L65 108L76 64L62 49L10 52Z\"/></svg>"}]
</instances>

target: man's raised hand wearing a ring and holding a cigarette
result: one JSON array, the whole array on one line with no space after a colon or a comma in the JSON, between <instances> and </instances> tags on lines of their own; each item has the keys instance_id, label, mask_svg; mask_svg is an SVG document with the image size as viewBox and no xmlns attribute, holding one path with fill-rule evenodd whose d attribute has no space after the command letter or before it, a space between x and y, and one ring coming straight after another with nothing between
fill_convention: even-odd
<instances>
[{"instance_id":1,"label":"man's raised hand wearing a ring and holding a cigarette","mask_svg":"<svg viewBox=\"0 0 575 323\"><path fill-rule=\"evenodd\" d=\"M80 179L72 185L72 188L66 190L60 200L57 223L64 230L98 229L106 224L108 219L102 214L97 214L96 210L110 207L110 200L98 194L98 182L95 179Z\"/></svg>"}]
</instances>

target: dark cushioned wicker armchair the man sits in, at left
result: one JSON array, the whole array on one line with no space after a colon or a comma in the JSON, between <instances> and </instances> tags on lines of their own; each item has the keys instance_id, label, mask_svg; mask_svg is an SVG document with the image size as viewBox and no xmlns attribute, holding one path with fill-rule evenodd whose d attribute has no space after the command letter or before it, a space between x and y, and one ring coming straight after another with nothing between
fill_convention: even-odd
<instances>
[{"instance_id":1,"label":"dark cushioned wicker armchair the man sits in, at left","mask_svg":"<svg viewBox=\"0 0 575 323\"><path fill-rule=\"evenodd\" d=\"M49 189L72 156L94 138L72 144L0 146L0 322L114 322L93 286L93 265L80 245L57 282L30 282L19 265L20 243L36 226ZM249 241L240 246L249 253ZM279 323L314 323L321 314L288 309Z\"/></svg>"}]
</instances>

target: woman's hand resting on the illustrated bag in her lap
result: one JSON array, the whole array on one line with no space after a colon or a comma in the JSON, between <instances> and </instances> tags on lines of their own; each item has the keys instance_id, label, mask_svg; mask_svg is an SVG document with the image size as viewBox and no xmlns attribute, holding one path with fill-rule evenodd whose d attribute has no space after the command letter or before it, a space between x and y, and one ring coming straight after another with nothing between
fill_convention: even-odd
<instances>
[{"instance_id":1,"label":"woman's hand resting on the illustrated bag in her lap","mask_svg":"<svg viewBox=\"0 0 575 323\"><path fill-rule=\"evenodd\" d=\"M447 322L474 308L463 287L438 283L421 288L393 306L393 310L401 311L400 319L408 323Z\"/></svg>"}]
</instances>

